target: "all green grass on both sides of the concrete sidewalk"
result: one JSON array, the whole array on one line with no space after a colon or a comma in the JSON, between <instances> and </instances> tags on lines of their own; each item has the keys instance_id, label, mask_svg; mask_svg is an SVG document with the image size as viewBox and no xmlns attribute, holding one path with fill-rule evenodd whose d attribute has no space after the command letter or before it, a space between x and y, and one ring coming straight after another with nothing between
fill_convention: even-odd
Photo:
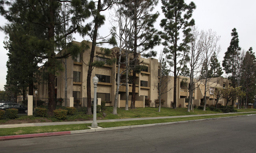
<instances>
[{"instance_id":1,"label":"all green grass on both sides of the concrete sidewalk","mask_svg":"<svg viewBox=\"0 0 256 153\"><path fill-rule=\"evenodd\" d=\"M164 123L164 122L176 122L176 121L183 121L183 120L195 120L195 119L203 119L203 118L216 118L216 117L229 117L229 116L237 116L237 115L256 114L256 109L245 109L245 110L237 109L238 112L255 111L255 113L242 113L242 114L226 113L224 115L218 115L219 112L202 111L199 109L195 109L194 112L189 113L185 108L178 108L178 109L161 108L161 112L157 112L158 108L146 107L146 108L131 109L129 111L125 111L123 108L118 108L117 110L118 115L113 115L112 109L113 107L107 107L107 110L105 110L105 113L107 113L107 117L105 117L104 119L163 117L163 116L181 116L181 115L196 115L196 114L216 114L216 115L200 116L200 117L166 118L166 119L157 119L157 120L103 122L103 123L98 123L98 126L100 127L131 126L131 125L154 124L154 123ZM58 125L58 126L2 128L0 130L0 136L90 129L88 126L91 126L91 124L69 124L69 125Z\"/></svg>"}]
</instances>

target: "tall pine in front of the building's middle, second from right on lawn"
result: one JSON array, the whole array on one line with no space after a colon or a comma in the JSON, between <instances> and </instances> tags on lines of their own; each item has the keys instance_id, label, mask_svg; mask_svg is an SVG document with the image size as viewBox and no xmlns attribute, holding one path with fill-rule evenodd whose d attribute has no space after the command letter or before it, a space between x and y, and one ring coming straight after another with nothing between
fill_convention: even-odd
<instances>
[{"instance_id":1,"label":"tall pine in front of the building's middle, second from right on lawn","mask_svg":"<svg viewBox=\"0 0 256 153\"><path fill-rule=\"evenodd\" d=\"M132 97L131 97L131 108L135 108L135 89L136 89L136 73L140 72L140 60L138 55L153 49L155 45L159 44L159 36L157 30L154 28L154 23L156 22L159 13L151 13L154 6L157 4L157 0L124 0L124 5L129 5L128 14L134 25L132 33L133 46L131 49L133 51L133 60L131 61L131 68L133 69L133 79L132 79ZM145 54L146 57L155 56L154 51L150 51L149 54Z\"/></svg>"}]
</instances>

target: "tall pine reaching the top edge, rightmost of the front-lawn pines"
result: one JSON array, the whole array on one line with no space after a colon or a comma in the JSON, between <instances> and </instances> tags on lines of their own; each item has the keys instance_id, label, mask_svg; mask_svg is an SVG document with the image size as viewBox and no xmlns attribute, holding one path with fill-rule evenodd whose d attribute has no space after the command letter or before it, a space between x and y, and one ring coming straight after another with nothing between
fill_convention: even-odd
<instances>
[{"instance_id":1,"label":"tall pine reaching the top edge, rightmost of the front-lawn pines","mask_svg":"<svg viewBox=\"0 0 256 153\"><path fill-rule=\"evenodd\" d=\"M194 2L187 5L184 0L162 0L162 11L165 18L161 20L160 26L163 27L164 53L168 56L169 64L174 67L174 108L177 105L177 76L181 65L186 63L189 58L186 53L189 50L191 41L191 26L194 19L190 20L193 10L196 8ZM183 32L183 40L180 39L180 31ZM178 42L180 42L178 44ZM178 67L177 67L178 66Z\"/></svg>"}]
</instances>

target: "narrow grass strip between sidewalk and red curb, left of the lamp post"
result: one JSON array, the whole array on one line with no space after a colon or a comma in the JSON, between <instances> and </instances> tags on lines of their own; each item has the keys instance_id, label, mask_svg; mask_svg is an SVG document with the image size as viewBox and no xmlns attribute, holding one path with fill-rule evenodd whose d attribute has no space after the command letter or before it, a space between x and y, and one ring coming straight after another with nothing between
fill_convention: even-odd
<instances>
[{"instance_id":1,"label":"narrow grass strip between sidewalk and red curb, left of the lamp post","mask_svg":"<svg viewBox=\"0 0 256 153\"><path fill-rule=\"evenodd\" d=\"M88 126L87 124L68 124L68 125L57 125L57 126L1 128L0 136L25 135L25 134L34 134L34 133L50 133L50 132L90 129L87 126Z\"/></svg>"}]
</instances>

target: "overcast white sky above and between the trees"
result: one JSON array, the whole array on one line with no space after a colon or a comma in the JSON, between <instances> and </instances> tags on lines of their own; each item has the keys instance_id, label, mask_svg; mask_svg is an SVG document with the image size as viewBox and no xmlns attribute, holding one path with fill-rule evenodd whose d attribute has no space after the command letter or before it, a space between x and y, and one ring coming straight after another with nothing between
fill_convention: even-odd
<instances>
[{"instance_id":1,"label":"overcast white sky above and between the trees","mask_svg":"<svg viewBox=\"0 0 256 153\"><path fill-rule=\"evenodd\" d=\"M188 4L191 0L185 0ZM254 0L193 0L196 4L192 18L194 18L196 26L199 29L212 29L220 36L219 62L222 62L224 53L226 52L230 40L231 32L235 27L239 35L239 46L242 49L248 50L252 47L254 53L256 52L256 1ZM161 13L161 1L156 7L157 11ZM159 16L158 24L160 20L164 18L163 15ZM5 20L0 16L0 26L4 26ZM108 30L109 24L106 24L103 30ZM4 49L3 41L6 35L0 32L0 90L4 90L6 84L6 62L8 51ZM76 41L82 41L82 38L77 38ZM160 48L161 49L161 48ZM159 51L160 51L159 49Z\"/></svg>"}]
</instances>

